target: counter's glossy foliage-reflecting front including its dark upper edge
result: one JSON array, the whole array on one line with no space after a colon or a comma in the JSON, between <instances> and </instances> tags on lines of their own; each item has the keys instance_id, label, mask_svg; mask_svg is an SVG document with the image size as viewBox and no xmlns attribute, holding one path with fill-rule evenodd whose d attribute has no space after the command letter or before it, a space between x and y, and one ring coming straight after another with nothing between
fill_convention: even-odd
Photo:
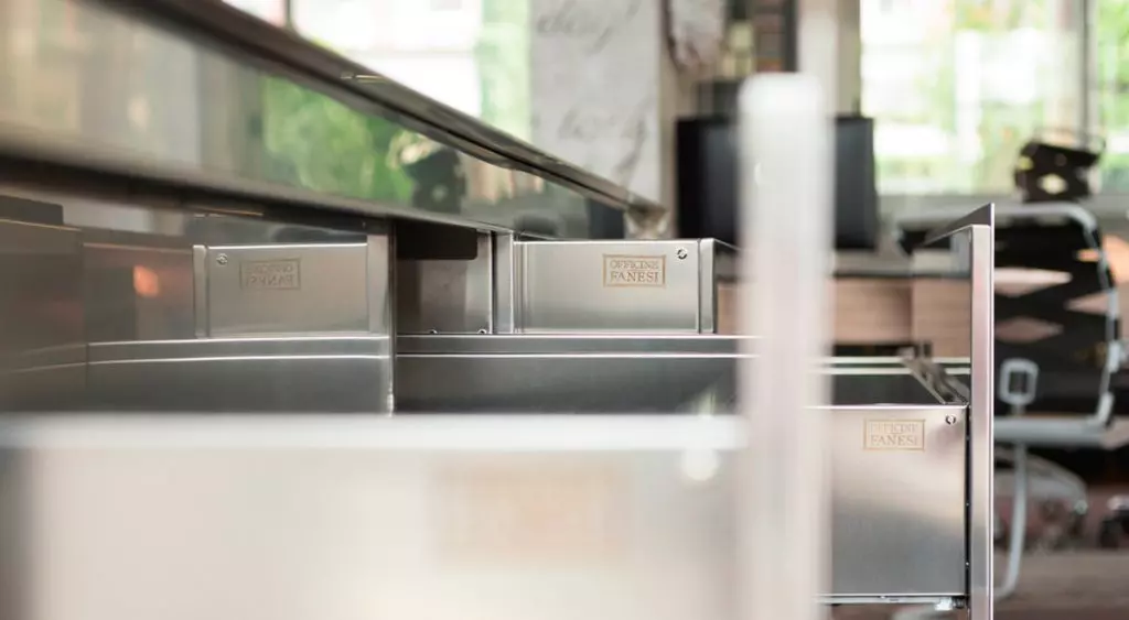
<instances>
[{"instance_id":1,"label":"counter's glossy foliage-reflecting front including its dark upper edge","mask_svg":"<svg viewBox=\"0 0 1129 620\"><path fill-rule=\"evenodd\" d=\"M16 0L0 41L20 85L0 94L9 180L35 160L68 184L80 169L580 238L589 210L658 209L402 87L342 80L357 68L221 2Z\"/></svg>"}]
</instances>

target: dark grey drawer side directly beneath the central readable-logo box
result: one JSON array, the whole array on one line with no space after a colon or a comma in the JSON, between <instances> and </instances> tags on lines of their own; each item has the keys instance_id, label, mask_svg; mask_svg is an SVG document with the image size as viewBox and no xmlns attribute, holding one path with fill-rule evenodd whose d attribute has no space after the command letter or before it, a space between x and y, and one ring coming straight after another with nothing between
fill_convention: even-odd
<instances>
[{"instance_id":1,"label":"dark grey drawer side directly beneath the central readable-logo box","mask_svg":"<svg viewBox=\"0 0 1129 620\"><path fill-rule=\"evenodd\" d=\"M726 336L401 336L397 410L730 413L738 344ZM900 365L830 360L832 401L936 405Z\"/></svg>"}]
</instances>

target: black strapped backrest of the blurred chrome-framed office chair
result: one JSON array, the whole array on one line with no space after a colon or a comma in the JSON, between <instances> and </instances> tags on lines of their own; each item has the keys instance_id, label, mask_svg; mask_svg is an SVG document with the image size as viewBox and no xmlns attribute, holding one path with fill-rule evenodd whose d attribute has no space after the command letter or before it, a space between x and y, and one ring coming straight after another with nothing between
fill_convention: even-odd
<instances>
[{"instance_id":1,"label":"black strapped backrest of the blurred chrome-framed office chair","mask_svg":"<svg viewBox=\"0 0 1129 620\"><path fill-rule=\"evenodd\" d=\"M947 218L944 211L901 218L902 245ZM1102 413L1109 423L1121 320L1096 219L1061 203L998 206L996 219L997 374L1008 360L1029 360L1039 370L1029 411L1071 420ZM998 397L997 417L1006 417L1010 404Z\"/></svg>"}]
</instances>

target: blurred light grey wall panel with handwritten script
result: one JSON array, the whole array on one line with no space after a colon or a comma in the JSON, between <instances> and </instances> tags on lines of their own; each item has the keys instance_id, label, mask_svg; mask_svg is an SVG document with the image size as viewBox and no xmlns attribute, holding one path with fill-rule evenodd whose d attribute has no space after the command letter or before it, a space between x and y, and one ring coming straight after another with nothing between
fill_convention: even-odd
<instances>
[{"instance_id":1,"label":"blurred light grey wall panel with handwritten script","mask_svg":"<svg viewBox=\"0 0 1129 620\"><path fill-rule=\"evenodd\" d=\"M662 200L659 2L531 6L532 140L649 200Z\"/></svg>"}]
</instances>

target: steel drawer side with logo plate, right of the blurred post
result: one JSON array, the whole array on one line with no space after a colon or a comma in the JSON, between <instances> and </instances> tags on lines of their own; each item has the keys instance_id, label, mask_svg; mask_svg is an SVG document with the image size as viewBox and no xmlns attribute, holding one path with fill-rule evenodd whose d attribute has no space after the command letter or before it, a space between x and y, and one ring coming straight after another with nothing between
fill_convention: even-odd
<instances>
[{"instance_id":1,"label":"steel drawer side with logo plate, right of the blurred post","mask_svg":"<svg viewBox=\"0 0 1129 620\"><path fill-rule=\"evenodd\" d=\"M831 425L832 592L962 595L965 408L839 407Z\"/></svg>"}]
</instances>

